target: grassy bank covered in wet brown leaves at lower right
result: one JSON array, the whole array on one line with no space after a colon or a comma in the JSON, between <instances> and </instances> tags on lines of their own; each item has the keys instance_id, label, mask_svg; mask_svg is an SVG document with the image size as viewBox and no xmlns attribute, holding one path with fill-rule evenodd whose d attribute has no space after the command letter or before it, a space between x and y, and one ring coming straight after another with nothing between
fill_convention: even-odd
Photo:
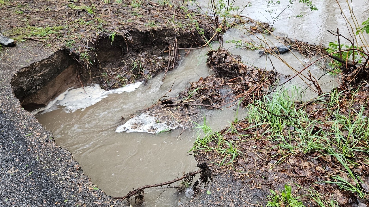
<instances>
[{"instance_id":1,"label":"grassy bank covered in wet brown leaves at lower right","mask_svg":"<svg viewBox=\"0 0 369 207\"><path fill-rule=\"evenodd\" d=\"M295 102L287 90L276 92L251 102L245 120L235 120L228 129L199 125L204 136L193 151L199 162L218 165L214 171L232 173L250 189L272 192L270 202L291 206L280 194L291 186L290 196L297 195L306 207L366 206L367 91L334 89L308 102Z\"/></svg>"}]
</instances>

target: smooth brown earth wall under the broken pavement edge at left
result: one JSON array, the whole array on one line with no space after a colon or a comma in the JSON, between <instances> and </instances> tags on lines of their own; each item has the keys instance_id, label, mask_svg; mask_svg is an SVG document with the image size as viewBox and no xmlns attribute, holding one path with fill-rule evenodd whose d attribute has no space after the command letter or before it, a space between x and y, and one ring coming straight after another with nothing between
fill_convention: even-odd
<instances>
[{"instance_id":1,"label":"smooth brown earth wall under the broken pavement edge at left","mask_svg":"<svg viewBox=\"0 0 369 207\"><path fill-rule=\"evenodd\" d=\"M14 95L26 110L45 106L68 87L75 85L77 69L78 64L69 52L58 50L50 57L18 71L11 81Z\"/></svg>"}]
</instances>

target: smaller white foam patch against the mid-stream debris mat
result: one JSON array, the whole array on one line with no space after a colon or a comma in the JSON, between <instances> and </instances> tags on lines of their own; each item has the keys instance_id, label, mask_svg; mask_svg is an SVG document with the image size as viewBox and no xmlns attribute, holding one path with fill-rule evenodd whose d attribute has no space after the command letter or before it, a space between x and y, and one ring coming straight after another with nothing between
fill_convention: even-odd
<instances>
[{"instance_id":1,"label":"smaller white foam patch against the mid-stream debris mat","mask_svg":"<svg viewBox=\"0 0 369 207\"><path fill-rule=\"evenodd\" d=\"M128 120L123 125L118 126L117 129L115 129L115 132L147 132L156 134L161 131L170 131L176 129L178 126L179 124L176 124L175 122L160 122L157 118L155 118L155 116L142 113L141 115L135 116Z\"/></svg>"}]
</instances>

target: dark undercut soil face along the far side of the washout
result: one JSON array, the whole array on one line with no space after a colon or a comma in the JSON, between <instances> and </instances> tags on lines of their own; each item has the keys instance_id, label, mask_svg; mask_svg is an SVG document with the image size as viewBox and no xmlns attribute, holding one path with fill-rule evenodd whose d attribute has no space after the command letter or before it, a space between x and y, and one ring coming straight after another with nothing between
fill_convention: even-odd
<instances>
[{"instance_id":1,"label":"dark undercut soil face along the far side of the washout","mask_svg":"<svg viewBox=\"0 0 369 207\"><path fill-rule=\"evenodd\" d=\"M130 35L130 36L128 36ZM24 67L13 77L11 85L24 109L32 111L46 106L70 87L99 83L110 90L136 81L147 81L165 70L168 46L200 45L199 35L177 34L172 29L152 32L130 32L101 37L94 47L90 64L82 64L67 49L56 51L39 62ZM165 52L165 50L167 50Z\"/></svg>"}]
</instances>

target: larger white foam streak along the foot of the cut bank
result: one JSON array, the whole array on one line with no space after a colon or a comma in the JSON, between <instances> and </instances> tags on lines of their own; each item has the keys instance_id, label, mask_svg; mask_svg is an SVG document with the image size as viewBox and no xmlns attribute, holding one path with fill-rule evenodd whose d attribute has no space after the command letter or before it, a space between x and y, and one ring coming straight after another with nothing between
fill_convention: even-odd
<instances>
[{"instance_id":1,"label":"larger white foam streak along the foot of the cut bank","mask_svg":"<svg viewBox=\"0 0 369 207\"><path fill-rule=\"evenodd\" d=\"M123 92L132 92L136 90L142 83L137 82L128 84L124 87L110 91L105 91L98 84L86 86L85 88L69 88L64 93L60 94L47 106L32 111L32 114L46 113L58 109L57 106L65 106L66 113L73 113L76 110L85 110L87 107L96 104L109 94L121 94Z\"/></svg>"}]
</instances>

